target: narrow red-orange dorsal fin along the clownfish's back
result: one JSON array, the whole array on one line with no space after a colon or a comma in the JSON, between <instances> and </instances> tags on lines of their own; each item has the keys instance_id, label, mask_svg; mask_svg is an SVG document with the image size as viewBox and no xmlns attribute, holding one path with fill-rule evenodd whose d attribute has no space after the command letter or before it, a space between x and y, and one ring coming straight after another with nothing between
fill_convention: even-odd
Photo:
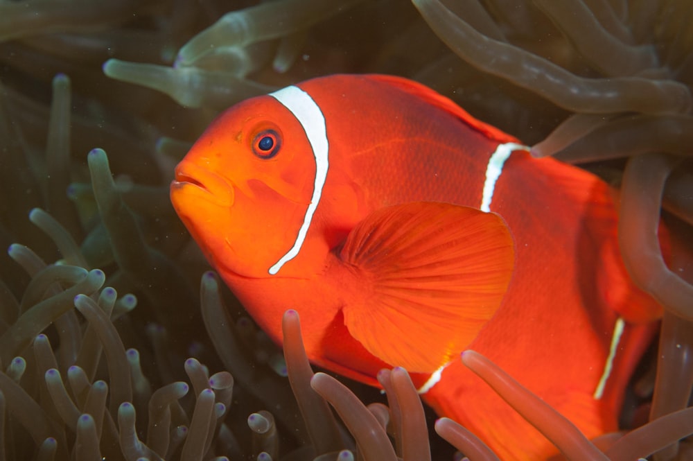
<instances>
[{"instance_id":1,"label":"narrow red-orange dorsal fin along the clownfish's back","mask_svg":"<svg viewBox=\"0 0 693 461\"><path fill-rule=\"evenodd\" d=\"M365 76L365 78L368 78L369 80L376 80L378 82L387 83L387 85L396 87L398 89L401 89L403 92L412 94L417 98L423 99L423 101L426 101L431 105L435 105L435 107L439 107L439 109L441 110L453 114L453 116L456 116L458 119L464 121L464 123L471 126L471 128L474 128L475 130L481 132L482 134L484 134L485 137L489 139L495 139L500 143L520 143L520 141L518 141L516 137L513 137L510 134L498 130L498 128L495 128L480 120L475 119L468 112L466 112L466 110L462 109L462 107L459 107L459 105L457 105L450 98L447 98L446 96L443 96L438 92L433 91L429 87L426 87L426 85L421 85L421 83L414 82L413 80L409 80L407 78L388 76L380 73L368 74Z\"/></svg>"}]
</instances>

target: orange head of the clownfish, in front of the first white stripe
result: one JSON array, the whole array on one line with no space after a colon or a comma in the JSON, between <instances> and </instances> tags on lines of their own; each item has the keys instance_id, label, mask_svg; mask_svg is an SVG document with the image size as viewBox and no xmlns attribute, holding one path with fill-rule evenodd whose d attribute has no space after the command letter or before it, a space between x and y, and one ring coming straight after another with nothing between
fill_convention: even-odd
<instances>
[{"instance_id":1,"label":"orange head of the clownfish, in front of the first white stripe","mask_svg":"<svg viewBox=\"0 0 693 461\"><path fill-rule=\"evenodd\" d=\"M304 223L316 168L301 123L259 96L211 123L175 168L170 198L217 270L270 277Z\"/></svg>"}]
</instances>

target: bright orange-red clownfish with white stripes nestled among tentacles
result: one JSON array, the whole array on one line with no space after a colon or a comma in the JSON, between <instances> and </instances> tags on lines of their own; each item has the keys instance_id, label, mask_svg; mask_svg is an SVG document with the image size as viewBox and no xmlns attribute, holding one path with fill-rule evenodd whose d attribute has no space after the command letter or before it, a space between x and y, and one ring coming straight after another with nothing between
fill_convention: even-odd
<instances>
[{"instance_id":1,"label":"bright orange-red clownfish with white stripes nestled among tentacles","mask_svg":"<svg viewBox=\"0 0 693 461\"><path fill-rule=\"evenodd\" d=\"M274 341L295 309L313 363L371 385L405 367L504 460L556 449L460 352L593 438L617 430L661 315L626 273L606 183L404 78L326 76L231 107L170 197Z\"/></svg>"}]
</instances>

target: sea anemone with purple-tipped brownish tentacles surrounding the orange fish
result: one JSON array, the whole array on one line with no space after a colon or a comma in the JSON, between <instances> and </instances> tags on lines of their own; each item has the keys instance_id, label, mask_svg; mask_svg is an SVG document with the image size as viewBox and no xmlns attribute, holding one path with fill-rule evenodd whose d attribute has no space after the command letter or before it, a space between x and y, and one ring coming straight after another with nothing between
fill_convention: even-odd
<instances>
[{"instance_id":1,"label":"sea anemone with purple-tipped brownish tentacles surrounding the orange fish","mask_svg":"<svg viewBox=\"0 0 693 461\"><path fill-rule=\"evenodd\" d=\"M380 376L389 408L364 406L377 395L313 376L297 315L285 318L285 369L214 275L200 297L192 288L206 263L168 203L173 164L231 103L337 72L424 82L534 155L620 188L624 260L665 308L651 422L597 450L493 364L463 360L553 426L572 459L690 455L674 442L693 432L693 7L414 4L238 2L229 15L215 1L0 4L0 457L413 460L429 443L449 456L429 442L402 369ZM470 459L494 459L453 421L435 429Z\"/></svg>"}]
</instances>

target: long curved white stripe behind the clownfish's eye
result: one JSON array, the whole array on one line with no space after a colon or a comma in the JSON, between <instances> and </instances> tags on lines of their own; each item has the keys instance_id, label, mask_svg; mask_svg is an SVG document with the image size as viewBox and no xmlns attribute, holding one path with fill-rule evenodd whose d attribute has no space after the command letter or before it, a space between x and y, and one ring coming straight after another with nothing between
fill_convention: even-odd
<instances>
[{"instance_id":1,"label":"long curved white stripe behind the clownfish's eye","mask_svg":"<svg viewBox=\"0 0 693 461\"><path fill-rule=\"evenodd\" d=\"M299 123L301 123L301 126L306 132L306 137L308 137L310 147L313 149L313 156L315 156L313 196L310 198L310 204L308 205L308 209L306 209L304 222L299 229L294 245L284 256L281 256L281 259L269 270L270 275L274 275L279 272L279 269L281 269L284 263L294 259L295 256L299 254L301 245L303 245L306 239L310 221L313 219L317 204L320 202L322 188L327 179L328 142L325 117L322 115L320 107L318 107L308 93L304 92L304 90L299 87L290 86L270 93L270 96L277 99L277 101L294 114Z\"/></svg>"}]
</instances>

